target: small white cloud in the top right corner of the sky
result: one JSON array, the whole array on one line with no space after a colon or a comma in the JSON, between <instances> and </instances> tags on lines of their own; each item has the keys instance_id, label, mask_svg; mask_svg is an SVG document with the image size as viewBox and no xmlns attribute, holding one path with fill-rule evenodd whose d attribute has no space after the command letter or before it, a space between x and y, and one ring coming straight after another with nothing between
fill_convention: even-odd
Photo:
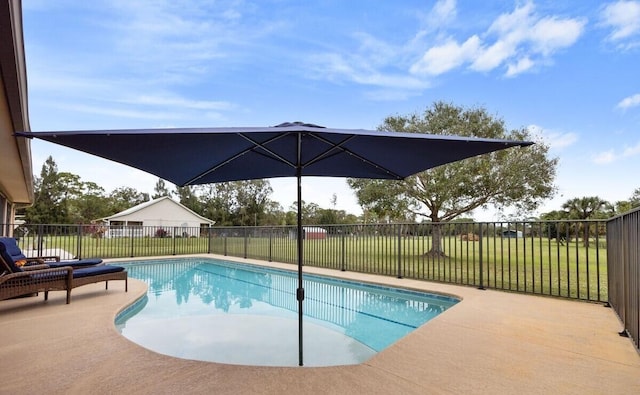
<instances>
[{"instance_id":1,"label":"small white cloud in the top right corner of the sky","mask_svg":"<svg viewBox=\"0 0 640 395\"><path fill-rule=\"evenodd\" d=\"M617 1L602 9L602 24L612 29L609 39L621 41L640 33L640 1Z\"/></svg>"}]
</instances>

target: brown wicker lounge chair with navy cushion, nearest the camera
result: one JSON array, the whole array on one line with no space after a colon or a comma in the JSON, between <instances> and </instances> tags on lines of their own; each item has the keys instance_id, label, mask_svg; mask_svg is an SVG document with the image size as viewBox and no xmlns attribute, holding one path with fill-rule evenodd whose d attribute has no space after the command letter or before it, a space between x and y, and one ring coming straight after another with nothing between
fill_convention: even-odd
<instances>
[{"instance_id":1,"label":"brown wicker lounge chair with navy cushion, nearest the camera","mask_svg":"<svg viewBox=\"0 0 640 395\"><path fill-rule=\"evenodd\" d=\"M25 265L20 267L14 262L11 254L9 254L9 251L7 250L7 244L5 243L0 243L0 259L2 260L3 266L4 266L4 269L0 268L0 272L4 273L3 278L9 275L31 276L32 278L39 277L39 276L47 277L47 273L49 272L41 272L41 270L68 271L70 273L71 278L68 279L68 282L66 283L65 287L62 287L61 283L50 284L50 285L41 287L42 288L41 290L45 292L45 300L48 298L49 290L67 290L67 303L70 303L71 302L70 295L71 295L71 290L73 288L80 287L86 284L102 282L102 281L105 282L105 289L109 289L109 281L124 280L125 282L124 290L125 292L129 291L128 274L125 268L122 266L96 265L96 266L84 266L79 268L74 268L72 266L51 268L49 267L48 264L41 264L41 265ZM20 277L20 278L23 278L23 277ZM24 277L24 278L27 278L27 277ZM34 287L34 288L37 288L37 287ZM23 293L16 294L13 296L39 292L38 290L29 290L29 289L25 287L25 291ZM19 291L15 291L15 292L19 292ZM12 297L12 296L8 296L8 297Z\"/></svg>"}]
</instances>

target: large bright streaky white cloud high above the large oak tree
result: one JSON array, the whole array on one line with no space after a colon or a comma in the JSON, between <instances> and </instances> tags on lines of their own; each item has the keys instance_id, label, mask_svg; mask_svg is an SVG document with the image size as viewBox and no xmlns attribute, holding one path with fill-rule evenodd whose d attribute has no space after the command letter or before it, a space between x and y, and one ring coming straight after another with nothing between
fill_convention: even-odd
<instances>
[{"instance_id":1,"label":"large bright streaky white cloud high above the large oak tree","mask_svg":"<svg viewBox=\"0 0 640 395\"><path fill-rule=\"evenodd\" d=\"M469 63L475 71L487 72L506 66L506 76L515 76L548 62L557 51L573 45L582 35L583 19L541 17L532 2L498 16L487 31L463 44L449 39L426 50L412 67L415 74L438 75ZM493 38L493 41L491 39Z\"/></svg>"}]
</instances>

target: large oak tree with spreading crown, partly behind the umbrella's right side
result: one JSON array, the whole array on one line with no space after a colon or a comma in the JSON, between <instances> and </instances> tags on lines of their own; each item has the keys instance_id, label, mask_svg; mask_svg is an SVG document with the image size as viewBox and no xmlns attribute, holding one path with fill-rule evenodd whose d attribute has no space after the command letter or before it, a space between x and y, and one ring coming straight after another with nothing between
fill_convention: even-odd
<instances>
[{"instance_id":1,"label":"large oak tree with spreading crown, partly behind the umbrella's right side","mask_svg":"<svg viewBox=\"0 0 640 395\"><path fill-rule=\"evenodd\" d=\"M532 140L526 129L508 130L502 119L484 108L463 108L436 102L424 113L387 117L382 131ZM516 208L529 212L555 193L558 160L548 157L549 146L511 148L450 163L404 181L349 179L365 210L404 219L407 212L438 224L477 208ZM397 158L402 160L402 158ZM431 255L444 255L439 226L434 227Z\"/></svg>"}]
</instances>

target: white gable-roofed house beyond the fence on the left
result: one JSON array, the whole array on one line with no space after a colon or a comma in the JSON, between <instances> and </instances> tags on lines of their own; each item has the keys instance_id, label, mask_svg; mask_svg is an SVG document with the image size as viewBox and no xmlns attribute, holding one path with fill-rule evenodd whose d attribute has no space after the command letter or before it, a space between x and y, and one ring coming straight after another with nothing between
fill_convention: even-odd
<instances>
[{"instance_id":1,"label":"white gable-roofed house beyond the fence on the left","mask_svg":"<svg viewBox=\"0 0 640 395\"><path fill-rule=\"evenodd\" d=\"M199 237L215 224L163 196L102 218L104 237Z\"/></svg>"}]
</instances>

